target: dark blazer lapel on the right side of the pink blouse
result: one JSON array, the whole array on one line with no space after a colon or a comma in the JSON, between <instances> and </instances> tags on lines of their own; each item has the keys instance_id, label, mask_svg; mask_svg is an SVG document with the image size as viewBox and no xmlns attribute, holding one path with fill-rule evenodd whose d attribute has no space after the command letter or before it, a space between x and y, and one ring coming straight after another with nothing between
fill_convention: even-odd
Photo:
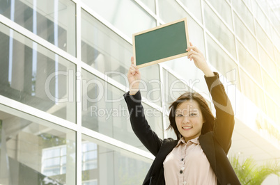
<instances>
[{"instance_id":1,"label":"dark blazer lapel on the right side of the pink blouse","mask_svg":"<svg viewBox=\"0 0 280 185\"><path fill-rule=\"evenodd\" d=\"M206 134L203 134L199 136L199 143L201 145L201 148L206 155L212 170L216 172L216 156L215 156L215 146L214 146L214 140L212 136L212 132L208 132Z\"/></svg>"}]
</instances>

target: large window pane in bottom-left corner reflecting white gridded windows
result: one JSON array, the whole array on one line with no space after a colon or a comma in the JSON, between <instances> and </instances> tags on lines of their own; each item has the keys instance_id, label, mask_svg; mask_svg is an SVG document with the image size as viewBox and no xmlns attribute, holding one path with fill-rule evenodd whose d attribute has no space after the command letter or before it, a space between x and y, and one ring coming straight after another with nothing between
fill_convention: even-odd
<instances>
[{"instance_id":1,"label":"large window pane in bottom-left corner reflecting white gridded windows","mask_svg":"<svg viewBox=\"0 0 280 185\"><path fill-rule=\"evenodd\" d=\"M1 184L75 184L75 131L13 110L0 111L0 133Z\"/></svg>"}]
</instances>

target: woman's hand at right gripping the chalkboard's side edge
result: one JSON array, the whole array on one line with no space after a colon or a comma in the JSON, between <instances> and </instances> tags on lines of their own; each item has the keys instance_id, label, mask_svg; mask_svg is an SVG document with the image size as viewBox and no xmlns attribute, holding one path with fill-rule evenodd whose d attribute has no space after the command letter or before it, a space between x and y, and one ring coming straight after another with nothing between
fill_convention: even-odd
<instances>
[{"instance_id":1,"label":"woman's hand at right gripping the chalkboard's side edge","mask_svg":"<svg viewBox=\"0 0 280 185\"><path fill-rule=\"evenodd\" d=\"M206 77L214 76L202 52L197 47L193 46L192 42L190 42L190 45L191 46L186 49L188 53L187 58L189 58L190 61L194 60L196 67L198 67Z\"/></svg>"}]
</instances>

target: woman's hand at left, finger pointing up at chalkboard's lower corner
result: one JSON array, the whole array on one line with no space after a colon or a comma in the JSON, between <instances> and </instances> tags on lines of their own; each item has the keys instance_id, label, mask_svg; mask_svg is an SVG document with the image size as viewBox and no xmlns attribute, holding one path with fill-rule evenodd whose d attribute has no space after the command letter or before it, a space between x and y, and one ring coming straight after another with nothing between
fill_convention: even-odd
<instances>
[{"instance_id":1,"label":"woman's hand at left, finger pointing up at chalkboard's lower corner","mask_svg":"<svg viewBox=\"0 0 280 185\"><path fill-rule=\"evenodd\" d=\"M130 95L135 95L139 90L139 82L141 80L141 73L138 67L133 63L134 57L131 57L130 69L127 73L127 79L130 83Z\"/></svg>"}]
</instances>

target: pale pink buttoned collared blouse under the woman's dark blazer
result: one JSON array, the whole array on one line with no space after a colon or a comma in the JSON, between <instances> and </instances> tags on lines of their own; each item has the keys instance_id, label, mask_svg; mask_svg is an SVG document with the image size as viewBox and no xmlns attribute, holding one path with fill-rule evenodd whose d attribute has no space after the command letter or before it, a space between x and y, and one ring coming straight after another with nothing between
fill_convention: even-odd
<instances>
[{"instance_id":1,"label":"pale pink buttoned collared blouse under the woman's dark blazer","mask_svg":"<svg viewBox=\"0 0 280 185\"><path fill-rule=\"evenodd\" d=\"M176 147L166 156L163 165L166 185L217 185L217 177L201 149L199 137L187 143L183 137L180 138Z\"/></svg>"}]
</instances>

